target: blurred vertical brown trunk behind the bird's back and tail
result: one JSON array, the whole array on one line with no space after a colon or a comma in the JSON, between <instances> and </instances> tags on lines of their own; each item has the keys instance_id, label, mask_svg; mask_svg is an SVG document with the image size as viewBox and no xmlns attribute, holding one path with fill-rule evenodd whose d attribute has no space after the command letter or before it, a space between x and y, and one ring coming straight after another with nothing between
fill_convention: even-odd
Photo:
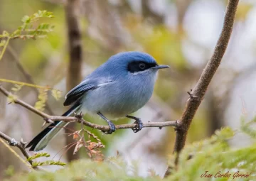
<instances>
[{"instance_id":1,"label":"blurred vertical brown trunk behind the bird's back and tail","mask_svg":"<svg viewBox=\"0 0 256 181\"><path fill-rule=\"evenodd\" d=\"M67 90L72 89L81 81L81 68L82 68L82 40L79 24L79 0L68 0L65 4L65 18L68 28L68 51L69 62L67 72ZM75 130L75 123L68 124L66 133L70 130ZM66 135L66 145L72 143L74 140L72 136ZM68 161L76 160L79 158L78 153L73 155L73 149L68 150Z\"/></svg>"}]
</instances>

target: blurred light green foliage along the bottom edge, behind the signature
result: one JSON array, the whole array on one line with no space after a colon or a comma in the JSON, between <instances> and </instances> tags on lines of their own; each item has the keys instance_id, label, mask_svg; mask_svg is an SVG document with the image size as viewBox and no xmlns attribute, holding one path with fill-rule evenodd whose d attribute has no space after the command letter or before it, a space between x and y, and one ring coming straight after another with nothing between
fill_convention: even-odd
<instances>
[{"instance_id":1,"label":"blurred light green foliage along the bottom edge, behind the signature","mask_svg":"<svg viewBox=\"0 0 256 181\"><path fill-rule=\"evenodd\" d=\"M248 125L245 127L248 128ZM252 131L256 134L256 130ZM252 179L256 174L256 144L247 148L232 149L228 146L228 141L234 135L235 131L226 127L216 131L211 138L186 146L180 155L178 168L172 170L171 175L164 180L199 180L206 171L214 177L220 170L222 174L229 172L231 175L219 177L216 180L233 180L233 174L238 170L240 174L250 174L250 177L243 177L242 180ZM173 168L174 160L174 155L172 155L170 165ZM56 172L21 173L10 180L162 180L154 170L148 169L149 177L139 177L136 163L127 165L123 158L117 155L103 162L75 161Z\"/></svg>"}]
</instances>

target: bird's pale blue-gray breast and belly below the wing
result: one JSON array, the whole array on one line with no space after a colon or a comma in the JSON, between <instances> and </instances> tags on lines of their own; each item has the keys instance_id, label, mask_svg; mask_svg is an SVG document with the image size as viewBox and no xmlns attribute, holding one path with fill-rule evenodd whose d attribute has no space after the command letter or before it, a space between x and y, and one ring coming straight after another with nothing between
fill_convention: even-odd
<instances>
[{"instance_id":1,"label":"bird's pale blue-gray breast and belly below the wing","mask_svg":"<svg viewBox=\"0 0 256 181\"><path fill-rule=\"evenodd\" d=\"M108 119L127 116L149 101L153 89L154 79L145 79L144 82L126 79L106 84L85 95L82 109L92 114L100 111Z\"/></svg>"}]
</instances>

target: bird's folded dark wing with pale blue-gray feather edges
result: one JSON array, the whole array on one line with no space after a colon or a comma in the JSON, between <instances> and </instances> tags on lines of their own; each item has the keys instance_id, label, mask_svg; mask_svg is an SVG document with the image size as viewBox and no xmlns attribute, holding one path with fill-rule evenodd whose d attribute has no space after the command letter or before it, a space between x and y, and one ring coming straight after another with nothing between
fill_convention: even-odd
<instances>
[{"instance_id":1,"label":"bird's folded dark wing with pale blue-gray feather edges","mask_svg":"<svg viewBox=\"0 0 256 181\"><path fill-rule=\"evenodd\" d=\"M65 96L64 106L69 106L80 100L82 96L85 95L86 92L92 89L96 89L98 87L97 82L82 82L78 84L76 87L70 90L68 94Z\"/></svg>"}]
</instances>

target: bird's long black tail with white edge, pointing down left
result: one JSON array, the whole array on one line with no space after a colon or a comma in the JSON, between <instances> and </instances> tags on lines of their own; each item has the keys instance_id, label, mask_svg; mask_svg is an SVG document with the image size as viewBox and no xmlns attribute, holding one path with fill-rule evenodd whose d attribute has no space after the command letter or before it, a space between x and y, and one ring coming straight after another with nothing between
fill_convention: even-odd
<instances>
[{"instance_id":1,"label":"bird's long black tail with white edge, pointing down left","mask_svg":"<svg viewBox=\"0 0 256 181\"><path fill-rule=\"evenodd\" d=\"M68 111L66 111L62 116L70 116L73 112L77 111L80 108L80 104L73 105ZM38 135L33 138L32 141L28 143L26 148L29 148L30 151L39 151L46 148L48 143L57 135L61 128L65 127L68 122L65 121L55 121L53 124L50 124L43 131L38 133Z\"/></svg>"}]
</instances>

